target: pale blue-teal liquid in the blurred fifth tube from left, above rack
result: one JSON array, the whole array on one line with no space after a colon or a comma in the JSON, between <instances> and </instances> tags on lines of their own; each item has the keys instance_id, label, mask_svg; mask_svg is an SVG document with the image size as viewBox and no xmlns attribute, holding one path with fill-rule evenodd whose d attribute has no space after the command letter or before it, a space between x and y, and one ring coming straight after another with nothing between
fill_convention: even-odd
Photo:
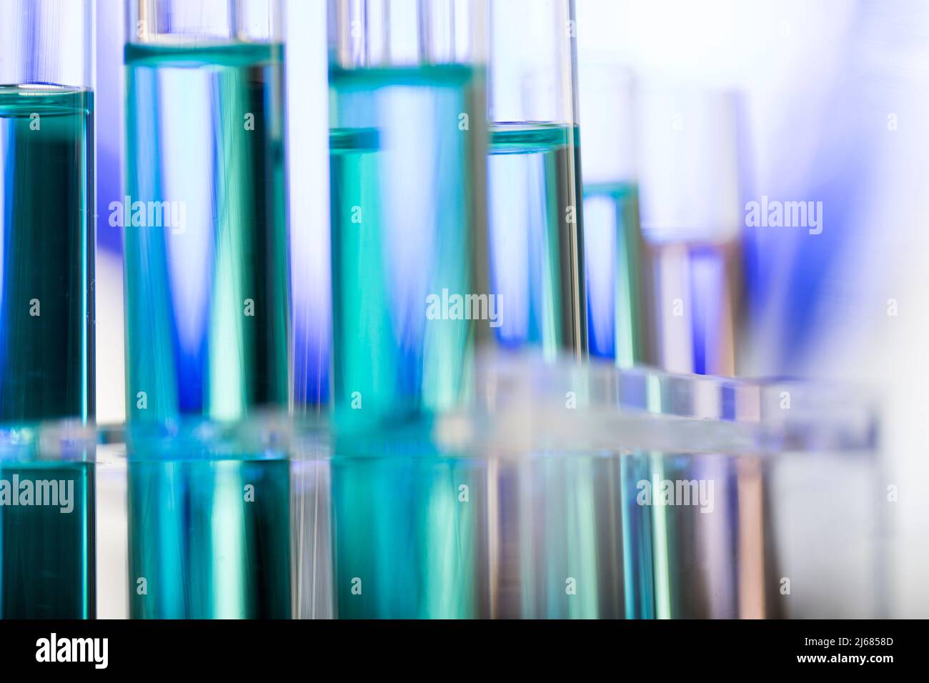
<instances>
[{"instance_id":1,"label":"pale blue-teal liquid in the blurred fifth tube from left, above rack","mask_svg":"<svg viewBox=\"0 0 929 683\"><path fill-rule=\"evenodd\" d=\"M620 367L644 363L638 191L634 183L585 184L583 206L590 353Z\"/></svg>"}]
</instances>

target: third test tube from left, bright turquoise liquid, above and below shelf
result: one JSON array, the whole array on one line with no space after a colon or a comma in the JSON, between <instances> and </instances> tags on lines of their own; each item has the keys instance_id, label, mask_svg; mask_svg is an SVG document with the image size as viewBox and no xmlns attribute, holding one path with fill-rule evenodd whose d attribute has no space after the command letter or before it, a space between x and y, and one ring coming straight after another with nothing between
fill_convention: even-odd
<instances>
[{"instance_id":1,"label":"third test tube from left, bright turquoise liquid, above and below shelf","mask_svg":"<svg viewBox=\"0 0 929 683\"><path fill-rule=\"evenodd\" d=\"M486 2L329 10L335 609L478 616L468 465L430 446L427 424L361 435L454 408L489 323L453 308L488 295Z\"/></svg>"}]
</instances>

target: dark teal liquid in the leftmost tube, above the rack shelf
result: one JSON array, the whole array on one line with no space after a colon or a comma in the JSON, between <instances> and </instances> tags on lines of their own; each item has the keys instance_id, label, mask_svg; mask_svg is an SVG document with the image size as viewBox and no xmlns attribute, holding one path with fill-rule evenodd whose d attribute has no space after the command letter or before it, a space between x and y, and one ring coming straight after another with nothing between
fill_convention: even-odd
<instances>
[{"instance_id":1,"label":"dark teal liquid in the leftmost tube, above the rack shelf","mask_svg":"<svg viewBox=\"0 0 929 683\"><path fill-rule=\"evenodd\" d=\"M0 423L93 418L92 112L0 85Z\"/></svg>"}]
</instances>

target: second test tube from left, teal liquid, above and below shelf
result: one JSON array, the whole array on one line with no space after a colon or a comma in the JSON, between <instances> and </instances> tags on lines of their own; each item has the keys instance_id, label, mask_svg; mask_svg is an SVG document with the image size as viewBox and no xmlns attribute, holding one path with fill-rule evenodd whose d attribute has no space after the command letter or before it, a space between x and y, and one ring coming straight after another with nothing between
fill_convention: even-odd
<instances>
[{"instance_id":1,"label":"second test tube from left, teal liquid, above and below shelf","mask_svg":"<svg viewBox=\"0 0 929 683\"><path fill-rule=\"evenodd\" d=\"M282 4L127 5L129 612L288 617L286 462L211 436L288 403Z\"/></svg>"}]
</instances>

